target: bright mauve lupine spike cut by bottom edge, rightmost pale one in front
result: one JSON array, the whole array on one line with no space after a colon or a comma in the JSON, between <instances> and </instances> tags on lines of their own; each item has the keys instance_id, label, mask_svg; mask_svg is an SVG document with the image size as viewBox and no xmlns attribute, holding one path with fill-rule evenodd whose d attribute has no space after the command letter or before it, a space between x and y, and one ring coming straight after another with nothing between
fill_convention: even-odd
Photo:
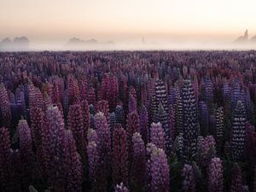
<instances>
[{"instance_id":1,"label":"bright mauve lupine spike cut by bottom edge, rightmost pale one in front","mask_svg":"<svg viewBox=\"0 0 256 192\"><path fill-rule=\"evenodd\" d=\"M208 166L208 191L223 191L223 167L218 157L212 158Z\"/></svg>"}]
</instances>

